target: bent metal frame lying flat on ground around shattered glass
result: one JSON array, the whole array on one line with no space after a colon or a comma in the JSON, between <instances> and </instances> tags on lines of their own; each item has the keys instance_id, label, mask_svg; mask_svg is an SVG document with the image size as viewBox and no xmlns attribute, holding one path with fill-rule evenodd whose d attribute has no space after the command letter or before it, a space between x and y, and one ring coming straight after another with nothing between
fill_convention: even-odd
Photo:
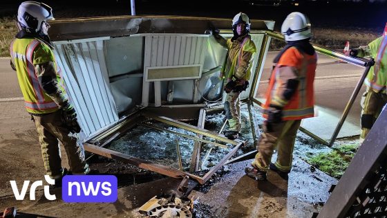
<instances>
[{"instance_id":1,"label":"bent metal frame lying flat on ground around shattered glass","mask_svg":"<svg viewBox=\"0 0 387 218\"><path fill-rule=\"evenodd\" d=\"M161 110L162 111L161 107ZM186 109L185 113L187 116L193 116L195 113L195 110L190 109L186 105L184 107L182 106L170 106L167 107L169 113L171 111L182 111ZM160 113L153 113L154 110L150 108L148 110L147 107L141 109L140 111L136 111L135 113L130 114L129 116L126 116L123 118L115 127L108 129L95 138L91 138L87 140L84 144L84 149L87 152L91 152L93 154L99 154L101 156L105 156L107 158L113 158L117 161L122 161L123 163L129 163L131 165L135 165L137 167L140 167L145 170L151 170L153 172L158 172L160 174L164 174L166 176L171 176L173 178L182 179L185 176L189 176L191 179L194 179L198 181L200 184L204 184L208 179L211 178L211 176L219 170L222 165L226 163L226 161L231 158L236 151L242 146L245 142L243 140L229 140L228 138L225 138L225 136L218 134L213 131L209 131L207 129L203 129L204 122L205 122L205 109L200 109L199 112L199 118L198 118L198 126L189 125L185 122L180 122L178 120L174 120L172 118L168 118L166 116L160 116ZM178 134L175 132L175 134L187 138L191 138L195 140L194 146L193 146L193 153L191 158L191 169L190 172L184 172L182 170L175 169L173 167L160 165L157 163L152 163L151 161L145 161L140 158L136 158L133 156L130 156L128 154L123 154L121 152L116 152L111 149L105 148L108 143L111 143L111 141L115 140L119 136L122 136L122 134L125 134L127 131L138 125L140 122L142 122L145 119L152 119L157 120L159 122L163 122L167 125L171 125L173 127L178 127L181 129L185 129L187 131L192 131L193 133L198 134L196 137L188 136L185 134ZM151 125L150 125L151 127ZM154 127L155 129L160 129L158 127ZM171 132L172 133L172 132ZM207 140L203 140L202 136L207 136L210 138L214 138L217 141L227 143L227 145L223 145L222 147L230 147L231 151L228 152L214 167L211 168L204 176L197 176L195 174L192 174L191 172L196 172L198 170L198 164L200 160L200 147L201 143L205 142L214 146L220 146L219 143L211 143ZM192 168L193 166L193 168Z\"/></svg>"}]
</instances>

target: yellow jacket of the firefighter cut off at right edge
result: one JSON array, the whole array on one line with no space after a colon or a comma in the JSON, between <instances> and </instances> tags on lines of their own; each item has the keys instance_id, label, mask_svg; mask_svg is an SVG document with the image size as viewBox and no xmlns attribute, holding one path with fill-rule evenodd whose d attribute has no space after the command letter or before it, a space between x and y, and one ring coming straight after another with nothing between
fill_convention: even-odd
<instances>
[{"instance_id":1,"label":"yellow jacket of the firefighter cut off at right edge","mask_svg":"<svg viewBox=\"0 0 387 218\"><path fill-rule=\"evenodd\" d=\"M379 93L386 93L387 87L387 36L379 37L368 46L361 46L359 57L375 58L375 65L371 66L364 84Z\"/></svg>"}]
</instances>

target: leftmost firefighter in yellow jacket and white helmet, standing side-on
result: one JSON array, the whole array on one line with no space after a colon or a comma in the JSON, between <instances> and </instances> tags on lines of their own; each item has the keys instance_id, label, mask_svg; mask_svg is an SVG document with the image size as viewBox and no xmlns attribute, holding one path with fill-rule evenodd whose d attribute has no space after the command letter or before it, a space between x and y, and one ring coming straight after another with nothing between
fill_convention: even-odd
<instances>
[{"instance_id":1,"label":"leftmost firefighter in yellow jacket and white helmet, standing side-on","mask_svg":"<svg viewBox=\"0 0 387 218\"><path fill-rule=\"evenodd\" d=\"M46 173L60 185L67 170L62 167L58 141L66 149L73 174L88 174L89 168L78 143L81 129L77 114L66 96L47 33L47 21L53 19L50 6L36 1L21 3L17 11L19 33L10 45L10 64L17 71L26 110L35 122Z\"/></svg>"}]
</instances>

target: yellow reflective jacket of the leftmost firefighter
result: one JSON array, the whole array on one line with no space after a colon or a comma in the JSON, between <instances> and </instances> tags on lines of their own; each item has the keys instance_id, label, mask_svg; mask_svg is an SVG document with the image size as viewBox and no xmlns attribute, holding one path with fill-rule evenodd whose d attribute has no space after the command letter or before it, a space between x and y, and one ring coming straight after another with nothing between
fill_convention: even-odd
<instances>
[{"instance_id":1,"label":"yellow reflective jacket of the leftmost firefighter","mask_svg":"<svg viewBox=\"0 0 387 218\"><path fill-rule=\"evenodd\" d=\"M55 84L63 83L51 48L45 42L33 37L16 38L10 45L10 55L11 65L13 64L17 71L17 78L28 113L44 114L57 111L59 109L57 103L44 91L39 81L41 75L38 75L37 69L35 69L37 64L54 63L54 69L57 72L51 77L53 80L57 80ZM41 73L47 72L43 70ZM63 87L60 89L62 90L59 92L65 93Z\"/></svg>"}]
</instances>

